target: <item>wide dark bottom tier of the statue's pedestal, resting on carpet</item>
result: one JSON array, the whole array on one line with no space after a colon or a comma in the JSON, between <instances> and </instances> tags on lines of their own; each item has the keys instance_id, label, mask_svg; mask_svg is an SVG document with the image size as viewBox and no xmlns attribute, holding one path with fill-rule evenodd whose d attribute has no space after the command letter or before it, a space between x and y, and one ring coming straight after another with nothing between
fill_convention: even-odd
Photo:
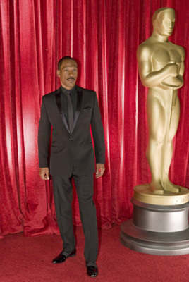
<instances>
[{"instance_id":1,"label":"wide dark bottom tier of the statue's pedestal, resting on carpet","mask_svg":"<svg viewBox=\"0 0 189 282\"><path fill-rule=\"evenodd\" d=\"M130 219L121 224L121 243L138 252L151 255L186 255L189 253L189 228L180 232L145 231Z\"/></svg>"}]
</instances>

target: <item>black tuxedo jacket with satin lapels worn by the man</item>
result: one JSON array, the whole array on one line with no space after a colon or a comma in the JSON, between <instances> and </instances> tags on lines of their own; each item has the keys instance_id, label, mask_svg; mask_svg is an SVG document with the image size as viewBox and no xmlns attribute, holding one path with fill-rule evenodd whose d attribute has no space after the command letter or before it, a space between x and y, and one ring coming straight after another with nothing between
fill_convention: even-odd
<instances>
[{"instance_id":1,"label":"black tuxedo jacket with satin lapels worn by the man","mask_svg":"<svg viewBox=\"0 0 189 282\"><path fill-rule=\"evenodd\" d=\"M53 176L71 176L73 171L80 176L95 171L90 125L96 162L105 162L104 130L96 92L77 86L77 93L77 110L71 130L61 108L61 88L42 97L38 133L39 166L50 167Z\"/></svg>"}]
</instances>

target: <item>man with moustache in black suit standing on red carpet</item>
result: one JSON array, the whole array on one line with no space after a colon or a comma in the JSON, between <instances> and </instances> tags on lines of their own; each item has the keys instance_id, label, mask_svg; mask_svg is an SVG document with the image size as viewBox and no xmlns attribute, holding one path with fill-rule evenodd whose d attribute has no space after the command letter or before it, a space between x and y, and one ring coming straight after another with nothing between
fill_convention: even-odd
<instances>
[{"instance_id":1,"label":"man with moustache in black suit standing on red carpet","mask_svg":"<svg viewBox=\"0 0 189 282\"><path fill-rule=\"evenodd\" d=\"M65 262L76 254L71 209L73 178L85 235L87 274L95 277L98 274L98 234L96 209L92 200L95 166L90 127L97 163L96 178L101 177L105 170L104 130L96 93L75 85L78 76L76 61L68 56L63 57L58 63L57 75L61 87L42 97L38 135L39 174L43 180L48 180L51 173L56 216L63 240L63 251L52 262Z\"/></svg>"}]
</instances>

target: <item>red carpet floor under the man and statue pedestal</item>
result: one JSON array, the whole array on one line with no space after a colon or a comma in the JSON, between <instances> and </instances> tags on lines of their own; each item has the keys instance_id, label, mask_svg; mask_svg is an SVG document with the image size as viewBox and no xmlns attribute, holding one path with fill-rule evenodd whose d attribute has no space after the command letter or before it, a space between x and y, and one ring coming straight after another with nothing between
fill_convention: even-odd
<instances>
[{"instance_id":1,"label":"red carpet floor under the man and statue pedestal","mask_svg":"<svg viewBox=\"0 0 189 282\"><path fill-rule=\"evenodd\" d=\"M61 252L59 235L23 237L6 235L0 240L1 282L188 282L189 255L155 256L129 250L119 242L119 226L99 229L99 276L86 274L83 257L83 231L76 228L76 257L63 264L51 259Z\"/></svg>"}]
</instances>

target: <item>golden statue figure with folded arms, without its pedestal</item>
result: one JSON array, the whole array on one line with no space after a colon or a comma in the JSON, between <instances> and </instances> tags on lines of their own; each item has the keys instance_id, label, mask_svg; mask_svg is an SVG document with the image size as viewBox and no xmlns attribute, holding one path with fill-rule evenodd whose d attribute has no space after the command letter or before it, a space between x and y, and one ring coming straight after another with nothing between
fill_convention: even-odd
<instances>
[{"instance_id":1,"label":"golden statue figure with folded arms, without its pedestal","mask_svg":"<svg viewBox=\"0 0 189 282\"><path fill-rule=\"evenodd\" d=\"M178 88L183 86L183 47L169 42L173 32L175 11L160 8L153 16L153 33L138 47L138 66L147 94L149 143L147 160L152 173L150 189L156 194L164 190L178 193L180 188L169 181L173 154L173 137L178 127L180 104Z\"/></svg>"}]
</instances>

